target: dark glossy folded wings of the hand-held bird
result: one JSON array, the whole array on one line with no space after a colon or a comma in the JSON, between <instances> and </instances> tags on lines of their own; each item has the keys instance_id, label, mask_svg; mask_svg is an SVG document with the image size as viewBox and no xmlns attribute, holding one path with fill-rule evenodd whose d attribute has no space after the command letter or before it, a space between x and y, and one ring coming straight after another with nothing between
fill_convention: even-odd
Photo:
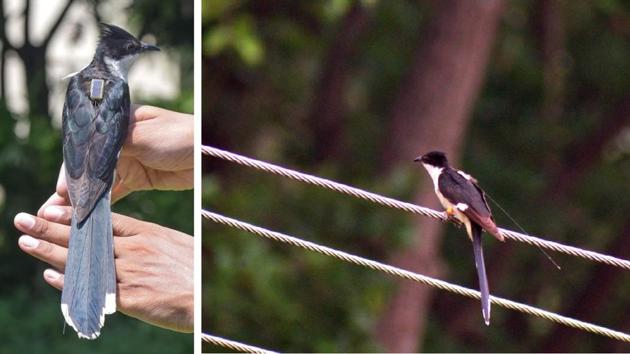
<instances>
[{"instance_id":1,"label":"dark glossy folded wings of the hand-held bird","mask_svg":"<svg viewBox=\"0 0 630 354\"><path fill-rule=\"evenodd\" d=\"M111 188L129 125L129 87L106 81L102 100L89 97L91 78L70 80L63 109L63 158L70 201L79 222Z\"/></svg>"}]
</instances>

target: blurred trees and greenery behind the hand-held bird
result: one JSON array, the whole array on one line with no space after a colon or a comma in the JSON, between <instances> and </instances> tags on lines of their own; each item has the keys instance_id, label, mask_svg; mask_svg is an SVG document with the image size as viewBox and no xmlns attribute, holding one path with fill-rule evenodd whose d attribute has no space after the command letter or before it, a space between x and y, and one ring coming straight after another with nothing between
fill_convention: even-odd
<instances>
[{"instance_id":1,"label":"blurred trees and greenery behind the hand-held bird","mask_svg":"<svg viewBox=\"0 0 630 354\"><path fill-rule=\"evenodd\" d=\"M60 82L47 80L50 41L58 35L60 26L69 21L68 13L73 8L88 11L80 21L70 24L74 26L74 36L61 38L69 46L85 35L86 28L95 28L99 21L120 21L120 18L109 18L105 11L120 1L59 0L58 3L63 3L62 10L52 14L50 30L40 42L31 40L30 32L31 26L42 21L36 17L42 11L33 10L42 3L25 0L23 10L9 13L5 11L8 2L0 1L0 279L3 284L0 289L0 352L190 353L193 350L191 335L157 328L120 313L107 317L97 341L79 340L71 328L66 328L64 335L60 292L43 281L45 265L17 246L19 234L13 226L14 216L21 211L36 213L54 192L62 162L61 131L50 114L50 92ZM181 77L179 94L168 100L138 97L134 94L134 85L142 83L132 80L132 101L192 113L193 2L168 0L156 6L151 0L137 0L122 6L128 16L128 30L140 36L153 35L162 48L159 55L176 58ZM23 38L27 39L23 43L14 43L7 36L11 16L14 21L26 24L20 26ZM5 65L11 55L24 65L27 114L11 111L7 105L10 91L17 88L17 82L9 81L11 75ZM79 64L83 67L88 63ZM113 211L193 233L192 191L134 193L117 203Z\"/></svg>"}]
</instances>

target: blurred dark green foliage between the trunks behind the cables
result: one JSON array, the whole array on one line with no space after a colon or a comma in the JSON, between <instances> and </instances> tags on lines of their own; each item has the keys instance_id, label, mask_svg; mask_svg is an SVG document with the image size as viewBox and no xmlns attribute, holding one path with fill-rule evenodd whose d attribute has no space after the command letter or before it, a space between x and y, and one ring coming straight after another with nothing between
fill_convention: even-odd
<instances>
[{"instance_id":1,"label":"blurred dark green foliage between the trunks behind the cables","mask_svg":"<svg viewBox=\"0 0 630 354\"><path fill-rule=\"evenodd\" d=\"M347 59L351 79L338 92L346 112L339 122L345 151L315 162L318 142L309 112L327 50L349 11L338 3L203 1L204 70L211 73L203 81L204 143L411 200L424 172L410 163L384 175L379 153L396 143L384 141L388 113L427 36L423 28L432 8L404 0L366 7L370 24L357 38L359 52ZM562 110L544 119L538 4L506 3L458 165L482 181L527 231L614 252L608 247L622 236L630 203L628 193L620 192L627 190L630 175L627 134L625 140L614 135L595 152L594 162L575 176L574 189L546 196L554 190L555 172L573 163L576 146L588 143L614 115L615 105L627 99L630 78L620 73L630 63L630 9L621 1L564 7ZM330 15L331 8L341 14ZM204 171L205 208L388 262L395 250L409 245L413 217L404 213L209 158ZM517 229L494 210L499 225ZM461 230L446 230L443 277L476 287L470 245ZM374 331L387 311L392 278L210 223L204 224L203 247L204 331L281 351L383 349ZM491 262L504 245L488 241L486 247ZM523 245L513 255L507 262L512 273L493 283L493 292L562 313L581 296L595 269L593 263L553 255L563 266L555 272L536 249ZM627 329L615 309L627 308L627 297L620 295L627 295L630 284L627 277L617 279L610 301L589 320ZM537 351L552 329L548 322L495 309L491 327L479 319L456 332L461 314L452 311L467 309L462 306L471 300L442 292L435 297L426 351ZM569 351L623 348L580 332L576 338Z\"/></svg>"}]
</instances>

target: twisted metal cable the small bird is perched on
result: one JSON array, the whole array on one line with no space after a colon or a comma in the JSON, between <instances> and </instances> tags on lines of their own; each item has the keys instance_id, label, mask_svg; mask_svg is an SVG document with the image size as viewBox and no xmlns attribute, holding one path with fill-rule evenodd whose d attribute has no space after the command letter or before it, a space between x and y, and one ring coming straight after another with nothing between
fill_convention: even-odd
<instances>
[{"instance_id":1,"label":"twisted metal cable the small bird is perched on","mask_svg":"<svg viewBox=\"0 0 630 354\"><path fill-rule=\"evenodd\" d=\"M420 214L428 217L432 217L434 219L439 219L442 221L448 220L443 212L433 210L430 208L422 207L416 204L402 202L393 198L385 197L376 193L368 192L359 188L355 188L343 183L338 183L331 181L329 179L316 177L313 175L309 175L306 173L294 171L288 168L280 167L268 162L263 162L260 160L252 159L249 157L245 157L242 155L238 155L229 151L217 149L211 146L201 146L201 151L209 156L217 157L226 161L234 162L239 165L252 167L257 170L269 172L275 175L284 176L296 181L301 181L304 183L312 184L315 186L319 186L322 188L330 189L339 193L351 195L353 197L364 199L370 201L372 203L384 205L394 209L404 210L413 214ZM605 263L608 265L612 265L619 268L624 268L630 270L630 261L601 254L598 252L593 252L585 249L581 249L578 247L563 245L558 242L547 241L538 237L529 236L525 234L521 234L515 231L506 230L499 228L499 233L503 235L505 238L527 243L529 245L534 245L542 248L546 248L549 250L553 250L560 253L569 254L576 257L581 257L584 259L588 259L591 261Z\"/></svg>"}]
</instances>

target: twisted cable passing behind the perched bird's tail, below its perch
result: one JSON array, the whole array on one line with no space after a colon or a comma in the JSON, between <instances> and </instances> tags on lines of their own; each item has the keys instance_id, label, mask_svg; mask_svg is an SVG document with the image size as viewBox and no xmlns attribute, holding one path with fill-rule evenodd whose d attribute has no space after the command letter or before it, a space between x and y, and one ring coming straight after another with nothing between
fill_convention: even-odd
<instances>
[{"instance_id":1,"label":"twisted cable passing behind the perched bird's tail, below its perch","mask_svg":"<svg viewBox=\"0 0 630 354\"><path fill-rule=\"evenodd\" d=\"M463 286L455 285L448 283L443 280L435 279L428 277L426 275L410 272L408 270L400 269L394 266L390 266L387 264L383 264L380 262L376 262L373 260L369 260L363 257L355 256L343 251L339 251L330 247L321 246L313 242L305 241L296 237L292 237L289 235L285 235L279 232L267 230L265 228L255 226L240 220L232 219L217 213L213 213L211 211L202 210L201 214L208 220L211 220L215 223L227 225L233 228L237 228L243 231L250 232L252 234L262 236L274 241L287 243L296 247L304 248L310 251L318 252L326 256L334 257L349 263L354 263L360 266L368 267L374 270L378 270L384 273L388 273L391 275L395 275L404 279L413 280L425 285L429 285L432 287L436 287L438 289L450 291L459 295L479 299L480 294L479 291L472 290L469 288L465 288ZM599 334L602 336L614 338L624 342L630 342L630 335L615 331L606 327L594 325L591 323L583 322L580 320L576 320L570 317L562 316L550 311L542 310L533 306L521 304L519 302L503 299L496 296L490 296L490 300L492 303L520 311L529 315L541 317L547 319L549 321L557 322L569 327L577 328L583 331L588 331L591 333Z\"/></svg>"}]
</instances>

